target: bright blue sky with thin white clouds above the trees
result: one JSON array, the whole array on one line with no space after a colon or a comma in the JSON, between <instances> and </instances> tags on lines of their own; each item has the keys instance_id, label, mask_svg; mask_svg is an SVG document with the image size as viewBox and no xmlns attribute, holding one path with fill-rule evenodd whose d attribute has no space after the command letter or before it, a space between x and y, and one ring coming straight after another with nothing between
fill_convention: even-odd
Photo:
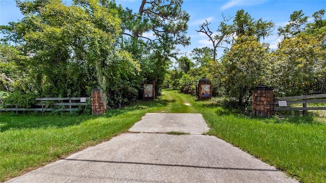
<instances>
[{"instance_id":1,"label":"bright blue sky with thin white clouds above the trees","mask_svg":"<svg viewBox=\"0 0 326 183\"><path fill-rule=\"evenodd\" d=\"M141 1L116 0L116 3L137 11ZM234 16L236 11L240 9L244 9L255 20L262 18L264 21L273 21L276 24L274 35L265 38L265 42L270 44L270 48L276 48L280 41L280 38L277 37L277 29L283 27L289 21L290 14L293 11L303 10L306 16L311 16L320 9L326 9L326 0L184 0L183 9L191 15L188 22L188 36L191 37L191 45L179 47L182 53L189 53L189 51L196 47L212 47L212 43L208 41L207 36L195 31L199 30L199 24L207 19L211 22L211 31L216 31L219 23L223 20L222 14L225 16ZM22 18L19 9L15 5L15 1L0 0L0 24L6 25L10 21L17 21ZM222 51L218 50L218 57L221 56Z\"/></svg>"}]
</instances>

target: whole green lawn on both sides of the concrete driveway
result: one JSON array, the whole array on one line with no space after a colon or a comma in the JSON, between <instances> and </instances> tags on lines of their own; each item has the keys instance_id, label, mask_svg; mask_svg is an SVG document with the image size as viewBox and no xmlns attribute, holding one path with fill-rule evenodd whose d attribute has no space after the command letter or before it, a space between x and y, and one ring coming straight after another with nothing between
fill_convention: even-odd
<instances>
[{"instance_id":1,"label":"whole green lawn on both sides of the concrete driveway","mask_svg":"<svg viewBox=\"0 0 326 183\"><path fill-rule=\"evenodd\" d=\"M189 103L190 106L184 103ZM302 182L326 182L325 117L256 118L164 90L102 116L0 114L0 181L126 132L148 112L201 113L213 135ZM178 134L177 134L178 135Z\"/></svg>"}]
</instances>

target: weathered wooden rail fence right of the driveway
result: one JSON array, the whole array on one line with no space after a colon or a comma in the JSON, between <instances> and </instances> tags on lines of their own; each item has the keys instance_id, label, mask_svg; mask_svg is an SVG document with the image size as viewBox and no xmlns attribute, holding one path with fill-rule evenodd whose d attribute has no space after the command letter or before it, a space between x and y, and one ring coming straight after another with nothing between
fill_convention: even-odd
<instances>
[{"instance_id":1,"label":"weathered wooden rail fence right of the driveway","mask_svg":"<svg viewBox=\"0 0 326 183\"><path fill-rule=\"evenodd\" d=\"M326 110L326 107L307 107L307 103L326 103L326 99L320 99L320 98L326 98L326 94L275 98L274 111L303 111L304 115L306 115L308 110ZM292 104L292 103L302 103L303 107L287 107L287 104Z\"/></svg>"}]
</instances>

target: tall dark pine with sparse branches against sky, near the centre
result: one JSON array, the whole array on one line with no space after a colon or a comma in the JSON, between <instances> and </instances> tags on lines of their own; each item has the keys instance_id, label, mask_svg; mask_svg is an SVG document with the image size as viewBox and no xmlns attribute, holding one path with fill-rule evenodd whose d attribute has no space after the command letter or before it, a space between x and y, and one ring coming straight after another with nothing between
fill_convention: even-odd
<instances>
[{"instance_id":1,"label":"tall dark pine with sparse branches against sky, near the centre","mask_svg":"<svg viewBox=\"0 0 326 183\"><path fill-rule=\"evenodd\" d=\"M118 7L122 39L129 42L122 44L123 48L139 61L143 77L155 80L156 90L164 82L170 59L176 58L173 51L176 45L190 43L186 36L189 15L182 10L182 3L182 0L142 0L136 12ZM110 2L106 4L109 6Z\"/></svg>"}]
</instances>

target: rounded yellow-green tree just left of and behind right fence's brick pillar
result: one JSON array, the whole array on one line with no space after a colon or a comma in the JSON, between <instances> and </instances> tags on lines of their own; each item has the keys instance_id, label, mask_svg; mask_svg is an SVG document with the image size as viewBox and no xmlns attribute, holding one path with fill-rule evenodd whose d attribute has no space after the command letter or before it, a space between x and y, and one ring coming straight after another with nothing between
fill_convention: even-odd
<instances>
[{"instance_id":1,"label":"rounded yellow-green tree just left of and behind right fence's brick pillar","mask_svg":"<svg viewBox=\"0 0 326 183\"><path fill-rule=\"evenodd\" d=\"M268 46L257 42L256 37L239 37L222 61L224 79L236 86L266 85L265 77L270 70L268 54Z\"/></svg>"}]
</instances>

